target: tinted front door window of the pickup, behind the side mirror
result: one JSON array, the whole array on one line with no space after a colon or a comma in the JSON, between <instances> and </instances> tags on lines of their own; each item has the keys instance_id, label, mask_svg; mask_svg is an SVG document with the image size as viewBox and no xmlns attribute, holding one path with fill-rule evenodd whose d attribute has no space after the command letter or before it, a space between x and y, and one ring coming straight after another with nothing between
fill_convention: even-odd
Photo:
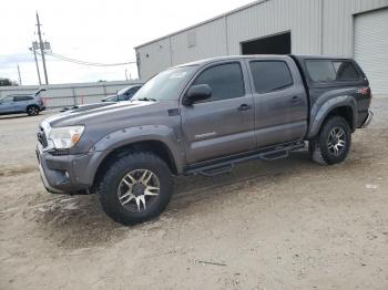
<instances>
[{"instance_id":1,"label":"tinted front door window of the pickup, behind the side mirror","mask_svg":"<svg viewBox=\"0 0 388 290\"><path fill-rule=\"evenodd\" d=\"M239 63L227 63L203 71L193 85L208 84L212 87L210 101L239 97L245 95L244 79Z\"/></svg>"}]
</instances>

